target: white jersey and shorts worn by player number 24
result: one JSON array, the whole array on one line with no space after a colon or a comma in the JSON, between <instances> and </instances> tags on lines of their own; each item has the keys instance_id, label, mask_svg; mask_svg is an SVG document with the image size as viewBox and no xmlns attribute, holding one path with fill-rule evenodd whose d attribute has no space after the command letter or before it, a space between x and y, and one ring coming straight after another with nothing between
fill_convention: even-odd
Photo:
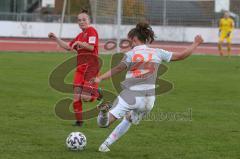
<instances>
[{"instance_id":1,"label":"white jersey and shorts worn by player number 24","mask_svg":"<svg viewBox=\"0 0 240 159\"><path fill-rule=\"evenodd\" d=\"M155 101L155 83L159 65L169 62L172 53L141 45L127 52L122 62L128 67L123 91L113 103L110 113L117 119L131 113L131 121L138 124L148 114Z\"/></svg>"}]
</instances>

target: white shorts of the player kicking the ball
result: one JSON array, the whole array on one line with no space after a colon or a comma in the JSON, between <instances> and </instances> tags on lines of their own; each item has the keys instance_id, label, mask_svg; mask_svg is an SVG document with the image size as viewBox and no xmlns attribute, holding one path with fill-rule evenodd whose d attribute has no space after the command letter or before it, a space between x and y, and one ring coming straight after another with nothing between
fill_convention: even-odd
<instances>
[{"instance_id":1,"label":"white shorts of the player kicking the ball","mask_svg":"<svg viewBox=\"0 0 240 159\"><path fill-rule=\"evenodd\" d=\"M117 119L125 117L128 113L131 115L133 124L139 124L142 118L153 108L155 96L135 97L134 104L129 104L120 95L114 101L110 113Z\"/></svg>"}]
</instances>

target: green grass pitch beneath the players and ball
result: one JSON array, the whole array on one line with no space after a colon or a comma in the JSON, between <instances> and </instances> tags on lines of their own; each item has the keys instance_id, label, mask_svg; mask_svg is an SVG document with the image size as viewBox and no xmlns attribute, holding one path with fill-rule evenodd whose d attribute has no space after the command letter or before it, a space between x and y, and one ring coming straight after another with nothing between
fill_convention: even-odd
<instances>
[{"instance_id":1,"label":"green grass pitch beneath the players and ball","mask_svg":"<svg viewBox=\"0 0 240 159\"><path fill-rule=\"evenodd\" d=\"M97 152L109 135L96 119L82 128L59 119L54 104L71 94L50 88L51 71L71 54L0 53L0 158L1 159L237 159L240 156L240 58L192 56L167 64L163 78L174 89L157 97L153 114L188 112L191 121L142 121L112 145ZM102 55L109 68L109 55ZM71 82L72 73L67 77ZM114 90L110 81L104 88ZM94 103L85 104L85 108ZM190 119L190 118L189 118ZM83 132L85 151L66 149L72 131Z\"/></svg>"}]
</instances>

